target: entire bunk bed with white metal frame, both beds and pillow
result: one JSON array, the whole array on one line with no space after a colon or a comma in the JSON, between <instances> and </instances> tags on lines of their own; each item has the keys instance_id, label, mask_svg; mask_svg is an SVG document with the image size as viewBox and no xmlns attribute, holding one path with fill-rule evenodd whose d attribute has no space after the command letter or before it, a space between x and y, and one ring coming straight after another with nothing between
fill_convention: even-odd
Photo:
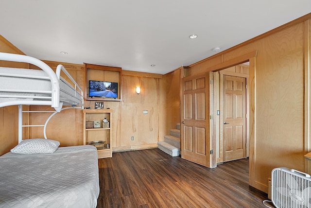
<instances>
[{"instance_id":1,"label":"entire bunk bed with white metal frame, both beds and pillow","mask_svg":"<svg viewBox=\"0 0 311 208\"><path fill-rule=\"evenodd\" d=\"M59 147L59 142L48 139L45 133L56 113L84 108L83 90L62 65L54 72L34 57L3 52L0 60L5 61L2 66L10 61L41 69L0 65L0 107L18 105L18 144L0 156L0 208L95 208L99 195L97 149L90 145ZM66 79L60 76L61 71ZM22 140L22 105L55 109L42 125L44 139Z\"/></svg>"}]
</instances>

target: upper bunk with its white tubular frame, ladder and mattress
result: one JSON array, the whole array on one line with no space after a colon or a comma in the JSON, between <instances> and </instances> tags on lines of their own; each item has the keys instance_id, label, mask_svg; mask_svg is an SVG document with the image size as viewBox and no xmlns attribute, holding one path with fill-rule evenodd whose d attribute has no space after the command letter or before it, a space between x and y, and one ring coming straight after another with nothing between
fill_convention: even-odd
<instances>
[{"instance_id":1,"label":"upper bunk with its white tubular frame, ladder and mattress","mask_svg":"<svg viewBox=\"0 0 311 208\"><path fill-rule=\"evenodd\" d=\"M44 126L44 137L47 139L46 125L56 112L69 108L84 108L82 88L62 65L58 65L54 72L51 67L39 59L4 52L0 52L0 60L28 63L42 69L0 67L0 107L18 105L18 143L22 141L22 127ZM60 76L61 71L66 74L71 85ZM50 105L55 111L52 111L52 115L44 125L23 126L22 113L38 111L22 111L22 105ZM63 108L64 105L71 107ZM51 111L48 112L51 113Z\"/></svg>"}]
</instances>

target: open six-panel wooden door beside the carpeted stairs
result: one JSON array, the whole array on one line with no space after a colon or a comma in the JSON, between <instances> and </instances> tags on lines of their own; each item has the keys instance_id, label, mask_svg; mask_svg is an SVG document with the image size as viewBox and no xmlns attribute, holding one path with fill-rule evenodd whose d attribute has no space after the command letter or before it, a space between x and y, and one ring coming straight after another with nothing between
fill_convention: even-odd
<instances>
[{"instance_id":1,"label":"open six-panel wooden door beside the carpeted stairs","mask_svg":"<svg viewBox=\"0 0 311 208\"><path fill-rule=\"evenodd\" d=\"M209 75L182 79L181 157L209 167Z\"/></svg>"}]
</instances>

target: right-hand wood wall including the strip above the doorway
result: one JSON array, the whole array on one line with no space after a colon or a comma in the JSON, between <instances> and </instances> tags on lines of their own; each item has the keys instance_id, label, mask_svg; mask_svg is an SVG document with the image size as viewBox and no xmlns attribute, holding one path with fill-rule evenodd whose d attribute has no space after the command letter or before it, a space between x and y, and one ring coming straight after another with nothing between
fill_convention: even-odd
<instances>
[{"instance_id":1,"label":"right-hand wood wall including the strip above the doorway","mask_svg":"<svg viewBox=\"0 0 311 208\"><path fill-rule=\"evenodd\" d=\"M195 63L188 70L189 75L219 70L217 66L225 67L222 63L240 64L235 60L258 52L251 63L254 66L250 67L253 70L250 78L252 74L255 77L254 87L249 89L254 91L250 99L255 105L251 106L254 109L250 115L254 118L255 130L250 136L250 185L264 192L268 192L268 178L273 168L284 166L305 171L304 155L310 151L305 148L309 137L304 134L304 88L308 83L304 60L305 53L310 54L310 43L305 41L310 40L306 32L310 29L305 25L310 25L310 18L311 14L301 17Z\"/></svg>"}]
</instances>

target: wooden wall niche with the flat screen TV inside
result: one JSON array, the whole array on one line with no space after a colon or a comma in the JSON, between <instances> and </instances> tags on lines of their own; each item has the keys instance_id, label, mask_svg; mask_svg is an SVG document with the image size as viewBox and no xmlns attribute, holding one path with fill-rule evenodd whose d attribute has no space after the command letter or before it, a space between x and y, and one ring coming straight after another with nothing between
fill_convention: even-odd
<instances>
[{"instance_id":1,"label":"wooden wall niche with the flat screen TV inside","mask_svg":"<svg viewBox=\"0 0 311 208\"><path fill-rule=\"evenodd\" d=\"M121 101L121 68L85 64L85 69L86 100Z\"/></svg>"}]
</instances>

